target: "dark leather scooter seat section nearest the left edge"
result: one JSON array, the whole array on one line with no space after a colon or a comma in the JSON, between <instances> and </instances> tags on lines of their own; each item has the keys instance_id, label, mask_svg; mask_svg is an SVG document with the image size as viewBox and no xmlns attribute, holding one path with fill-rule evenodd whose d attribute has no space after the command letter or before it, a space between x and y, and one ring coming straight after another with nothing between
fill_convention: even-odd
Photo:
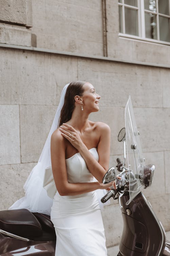
<instances>
[{"instance_id":1,"label":"dark leather scooter seat section nearest the left edge","mask_svg":"<svg viewBox=\"0 0 170 256\"><path fill-rule=\"evenodd\" d=\"M27 209L0 211L0 229L21 237L39 237L43 233L38 219Z\"/></svg>"}]
</instances>

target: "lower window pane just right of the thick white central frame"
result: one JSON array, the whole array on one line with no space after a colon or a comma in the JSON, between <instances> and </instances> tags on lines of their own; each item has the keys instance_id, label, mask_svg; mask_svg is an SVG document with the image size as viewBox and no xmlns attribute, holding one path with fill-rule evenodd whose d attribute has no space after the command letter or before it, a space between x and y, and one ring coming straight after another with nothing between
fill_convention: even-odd
<instances>
[{"instance_id":1,"label":"lower window pane just right of the thick white central frame","mask_svg":"<svg viewBox=\"0 0 170 256\"><path fill-rule=\"evenodd\" d=\"M145 13L145 32L147 38L157 39L156 15Z\"/></svg>"}]
</instances>

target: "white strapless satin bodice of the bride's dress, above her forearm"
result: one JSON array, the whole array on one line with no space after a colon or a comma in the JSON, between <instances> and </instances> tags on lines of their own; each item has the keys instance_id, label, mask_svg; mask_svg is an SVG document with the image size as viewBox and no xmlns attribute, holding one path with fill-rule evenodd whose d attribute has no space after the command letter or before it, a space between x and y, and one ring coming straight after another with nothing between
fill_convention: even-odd
<instances>
[{"instance_id":1,"label":"white strapless satin bodice of the bride's dress, above her forearm","mask_svg":"<svg viewBox=\"0 0 170 256\"><path fill-rule=\"evenodd\" d=\"M99 161L97 148L89 149L94 158ZM66 159L67 175L69 183L92 182L94 176L89 172L86 162L80 153L76 153Z\"/></svg>"}]
</instances>

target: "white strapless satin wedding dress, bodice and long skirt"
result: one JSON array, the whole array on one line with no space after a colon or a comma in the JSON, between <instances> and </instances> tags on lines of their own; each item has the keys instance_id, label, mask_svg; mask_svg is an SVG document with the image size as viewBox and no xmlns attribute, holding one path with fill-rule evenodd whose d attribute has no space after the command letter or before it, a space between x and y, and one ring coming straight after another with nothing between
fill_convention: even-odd
<instances>
[{"instance_id":1,"label":"white strapless satin wedding dress, bodice and long skirt","mask_svg":"<svg viewBox=\"0 0 170 256\"><path fill-rule=\"evenodd\" d=\"M96 148L90 153L98 161ZM80 153L66 159L69 183L92 182ZM56 192L51 207L51 221L56 232L55 256L107 256L104 227L95 191L77 196Z\"/></svg>"}]
</instances>

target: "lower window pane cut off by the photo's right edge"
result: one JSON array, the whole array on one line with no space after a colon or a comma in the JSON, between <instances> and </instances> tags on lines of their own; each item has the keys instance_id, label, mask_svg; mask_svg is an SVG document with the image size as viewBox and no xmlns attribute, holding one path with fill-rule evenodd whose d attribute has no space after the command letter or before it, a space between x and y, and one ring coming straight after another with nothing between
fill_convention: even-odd
<instances>
[{"instance_id":1,"label":"lower window pane cut off by the photo's right edge","mask_svg":"<svg viewBox=\"0 0 170 256\"><path fill-rule=\"evenodd\" d=\"M169 18L159 16L159 35L161 41L170 42Z\"/></svg>"}]
</instances>

